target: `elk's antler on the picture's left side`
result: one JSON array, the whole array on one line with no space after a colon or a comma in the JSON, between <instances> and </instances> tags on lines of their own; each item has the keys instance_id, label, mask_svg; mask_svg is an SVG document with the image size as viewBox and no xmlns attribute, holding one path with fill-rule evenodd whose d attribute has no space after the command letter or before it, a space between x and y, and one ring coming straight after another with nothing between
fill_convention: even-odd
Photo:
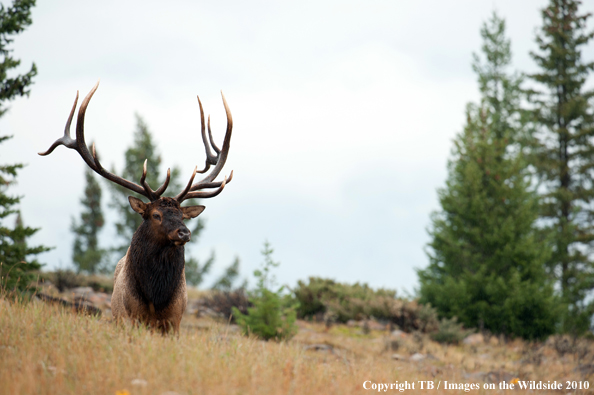
<instances>
[{"instance_id":1,"label":"elk's antler on the picture's left side","mask_svg":"<svg viewBox=\"0 0 594 395\"><path fill-rule=\"evenodd\" d=\"M84 98L84 100L82 101L82 103L80 105L80 109L78 110L78 118L76 120L76 139L73 140L70 137L70 124L72 123L72 118L74 117L74 110L76 109L76 103L78 102L78 91L76 91L76 99L74 99L74 104L72 105L72 110L70 110L70 116L68 117L68 121L66 122L66 127L64 128L64 136L57 139L51 145L51 147L49 147L49 149L47 151L40 152L39 155L42 155L42 156L49 155L59 145L63 145L67 148L72 148L73 150L78 152L78 154L83 158L85 163L95 173L99 174L101 177L104 177L104 178L108 179L109 181L115 182L116 184L123 186L126 189L129 189L133 192L143 195L151 201L155 201L155 200L159 199L159 197L161 196L161 194L163 194L163 192L165 192L165 189L167 188L167 185L169 184L169 178L171 176L169 170L167 170L167 179L165 180L163 185L156 191L153 191L149 187L147 182L145 181L145 179L146 179L146 161L144 162L144 171L142 173L142 178L140 179L140 183L142 184L142 186L140 186L138 184L128 181L122 177L116 176L115 174L112 174L109 171L105 170L103 168L103 166L101 166L101 163L99 162L97 153L95 152L95 144L94 143L93 143L93 146L91 147L91 150L93 151L93 155L91 156L91 153L89 152L89 149L87 148L87 144L85 143L85 112L87 111L87 106L89 105L89 102L91 101L91 98L93 97L93 94L95 93L95 91L97 90L98 87L99 87L99 81L97 81L97 83L95 84L93 89L91 89L89 94Z\"/></svg>"}]
</instances>

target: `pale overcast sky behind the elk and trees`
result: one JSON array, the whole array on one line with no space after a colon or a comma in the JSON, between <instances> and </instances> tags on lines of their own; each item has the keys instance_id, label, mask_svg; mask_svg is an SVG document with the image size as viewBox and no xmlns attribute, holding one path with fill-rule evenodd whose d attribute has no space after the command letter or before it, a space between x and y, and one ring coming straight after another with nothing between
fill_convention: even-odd
<instances>
[{"instance_id":1,"label":"pale overcast sky behind the elk and trees","mask_svg":"<svg viewBox=\"0 0 594 395\"><path fill-rule=\"evenodd\" d=\"M12 192L24 195L25 223L42 228L32 243L55 246L40 256L46 268L67 267L86 165L65 147L37 152L63 134L76 91L84 97L101 79L85 129L105 166L122 168L138 113L185 182L204 163L196 95L220 143L223 90L234 119L223 173L234 179L203 202L206 228L186 253L216 251L203 286L234 256L253 278L269 240L281 283L321 276L411 293L415 268L428 264L451 141L478 98L471 62L481 24L497 10L514 68L533 71L546 3L38 1L14 55L39 74L0 119L0 134L14 135L0 162L27 164ZM592 46L584 56L594 58ZM105 247L114 234L109 222Z\"/></svg>"}]
</instances>

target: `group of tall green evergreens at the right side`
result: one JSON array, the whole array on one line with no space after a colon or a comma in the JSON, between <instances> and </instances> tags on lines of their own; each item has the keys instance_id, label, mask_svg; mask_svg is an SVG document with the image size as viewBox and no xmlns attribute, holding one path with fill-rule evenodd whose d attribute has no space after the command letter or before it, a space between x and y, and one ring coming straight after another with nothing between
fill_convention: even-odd
<instances>
[{"instance_id":1,"label":"group of tall green evergreens at the right side","mask_svg":"<svg viewBox=\"0 0 594 395\"><path fill-rule=\"evenodd\" d=\"M493 14L474 55L469 103L431 217L419 296L468 327L540 339L583 334L594 301L593 33L579 1L551 0L530 55L512 72L505 21Z\"/></svg>"}]
</instances>

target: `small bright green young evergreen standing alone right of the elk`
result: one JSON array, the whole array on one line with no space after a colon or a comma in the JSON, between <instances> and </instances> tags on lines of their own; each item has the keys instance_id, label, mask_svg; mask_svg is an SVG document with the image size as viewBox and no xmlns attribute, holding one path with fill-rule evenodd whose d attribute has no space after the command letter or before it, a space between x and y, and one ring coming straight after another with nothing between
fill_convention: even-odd
<instances>
[{"instance_id":1,"label":"small bright green young evergreen standing alone right of the elk","mask_svg":"<svg viewBox=\"0 0 594 395\"><path fill-rule=\"evenodd\" d=\"M284 286L273 291L274 276L270 269L278 267L279 263L272 260L273 249L268 242L264 243L262 255L264 263L261 270L254 271L257 287L249 293L249 301L253 307L248 308L247 314L233 307L233 316L245 335L255 335L264 340L288 340L297 333L295 320L297 308L290 295L284 294Z\"/></svg>"}]
</instances>

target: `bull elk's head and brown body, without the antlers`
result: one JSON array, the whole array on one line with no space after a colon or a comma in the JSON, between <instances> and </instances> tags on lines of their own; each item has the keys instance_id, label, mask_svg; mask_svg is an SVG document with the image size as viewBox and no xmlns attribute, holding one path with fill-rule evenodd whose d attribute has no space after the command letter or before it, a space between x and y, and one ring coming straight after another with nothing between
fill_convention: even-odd
<instances>
[{"instance_id":1,"label":"bull elk's head and brown body, without the antlers","mask_svg":"<svg viewBox=\"0 0 594 395\"><path fill-rule=\"evenodd\" d=\"M171 328L179 333L188 301L184 244L190 240L182 219L198 216L204 206L180 207L171 198L148 204L130 198L130 204L144 221L116 266L112 314L163 334Z\"/></svg>"}]
</instances>

